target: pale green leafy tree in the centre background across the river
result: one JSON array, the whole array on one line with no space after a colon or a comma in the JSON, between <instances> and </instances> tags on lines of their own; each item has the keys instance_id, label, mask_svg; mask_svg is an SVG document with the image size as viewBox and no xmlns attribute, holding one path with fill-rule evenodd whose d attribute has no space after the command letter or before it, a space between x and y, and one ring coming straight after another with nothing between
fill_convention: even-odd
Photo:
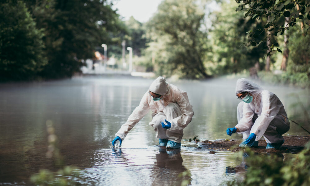
<instances>
[{"instance_id":1,"label":"pale green leafy tree in the centre background across the river","mask_svg":"<svg viewBox=\"0 0 310 186\"><path fill-rule=\"evenodd\" d=\"M165 0L148 21L149 49L158 66L157 73L171 75L178 72L182 78L208 78L204 66L206 31L204 8L196 1Z\"/></svg>"}]
</instances>

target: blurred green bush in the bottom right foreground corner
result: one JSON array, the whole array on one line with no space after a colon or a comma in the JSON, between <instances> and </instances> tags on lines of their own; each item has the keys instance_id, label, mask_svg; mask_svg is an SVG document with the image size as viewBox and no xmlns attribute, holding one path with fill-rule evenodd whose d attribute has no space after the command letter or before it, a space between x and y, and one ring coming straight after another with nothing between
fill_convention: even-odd
<instances>
[{"instance_id":1,"label":"blurred green bush in the bottom right foreground corner","mask_svg":"<svg viewBox=\"0 0 310 186\"><path fill-rule=\"evenodd\" d=\"M255 155L250 149L247 149L246 152L249 154L249 157L246 158L249 168L245 179L242 181L233 180L228 185L310 185L310 142L291 161L283 161L282 157L276 154Z\"/></svg>"}]
</instances>

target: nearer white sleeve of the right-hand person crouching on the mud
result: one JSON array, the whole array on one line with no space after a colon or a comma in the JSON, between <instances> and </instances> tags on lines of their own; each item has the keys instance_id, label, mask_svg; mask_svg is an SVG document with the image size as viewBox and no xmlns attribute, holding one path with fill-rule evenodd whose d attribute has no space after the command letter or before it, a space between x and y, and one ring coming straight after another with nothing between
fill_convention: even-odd
<instances>
[{"instance_id":1,"label":"nearer white sleeve of the right-hand person crouching on the mud","mask_svg":"<svg viewBox=\"0 0 310 186\"><path fill-rule=\"evenodd\" d=\"M257 139L260 139L263 136L270 122L277 116L280 109L277 106L278 101L279 99L273 93L268 91L262 92L262 113L255 120L250 131L250 133L256 134Z\"/></svg>"}]
</instances>

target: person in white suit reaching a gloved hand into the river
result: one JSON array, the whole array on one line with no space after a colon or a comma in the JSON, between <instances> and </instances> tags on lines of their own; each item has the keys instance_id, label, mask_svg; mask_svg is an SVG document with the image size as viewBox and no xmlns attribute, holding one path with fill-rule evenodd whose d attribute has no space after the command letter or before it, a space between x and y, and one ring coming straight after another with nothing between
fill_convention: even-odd
<instances>
[{"instance_id":1,"label":"person in white suit reaching a gloved hand into the river","mask_svg":"<svg viewBox=\"0 0 310 186\"><path fill-rule=\"evenodd\" d=\"M187 92L167 83L161 76L153 81L139 106L115 134L112 145L114 146L117 140L121 145L127 133L150 109L153 112L153 120L149 125L154 127L159 145L166 148L180 148L183 129L192 121L194 115L193 106L189 103Z\"/></svg>"}]
</instances>

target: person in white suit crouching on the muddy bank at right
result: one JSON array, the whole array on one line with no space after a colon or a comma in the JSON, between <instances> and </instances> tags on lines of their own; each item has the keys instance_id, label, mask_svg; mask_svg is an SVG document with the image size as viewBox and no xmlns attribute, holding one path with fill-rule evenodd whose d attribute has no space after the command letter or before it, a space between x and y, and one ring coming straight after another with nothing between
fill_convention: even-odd
<instances>
[{"instance_id":1,"label":"person in white suit crouching on the muddy bank at right","mask_svg":"<svg viewBox=\"0 0 310 186\"><path fill-rule=\"evenodd\" d=\"M257 147L263 136L268 143L266 148L279 148L290 122L277 95L245 78L237 80L236 95L242 100L237 106L238 124L228 128L227 135L243 134L240 147Z\"/></svg>"}]
</instances>

